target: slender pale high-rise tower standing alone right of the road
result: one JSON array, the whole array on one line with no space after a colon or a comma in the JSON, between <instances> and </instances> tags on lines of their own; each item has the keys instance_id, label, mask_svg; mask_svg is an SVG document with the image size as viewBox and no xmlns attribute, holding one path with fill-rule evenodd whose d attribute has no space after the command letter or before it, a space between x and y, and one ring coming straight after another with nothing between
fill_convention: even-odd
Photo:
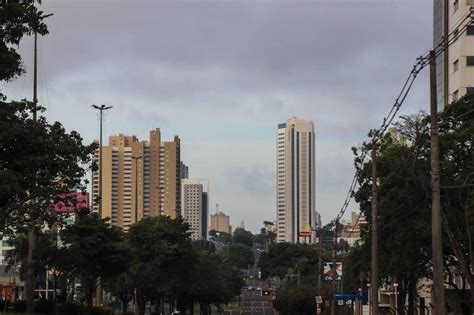
<instances>
[{"instance_id":1,"label":"slender pale high-rise tower standing alone right of the road","mask_svg":"<svg viewBox=\"0 0 474 315\"><path fill-rule=\"evenodd\" d=\"M278 125L276 209L279 242L313 242L315 208L314 123L291 118Z\"/></svg>"}]
</instances>

